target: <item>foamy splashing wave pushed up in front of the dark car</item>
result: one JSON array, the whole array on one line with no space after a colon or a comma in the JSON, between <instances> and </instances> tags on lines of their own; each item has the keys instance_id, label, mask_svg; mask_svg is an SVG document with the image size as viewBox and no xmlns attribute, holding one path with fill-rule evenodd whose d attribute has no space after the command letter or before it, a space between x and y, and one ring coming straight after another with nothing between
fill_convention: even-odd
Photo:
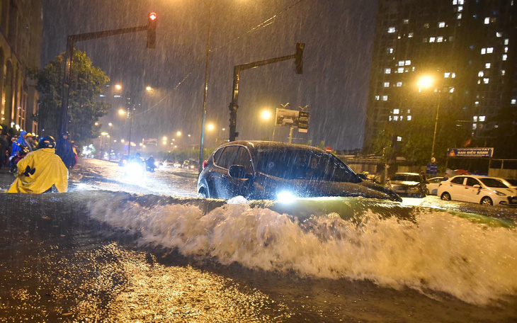
<instances>
[{"instance_id":1,"label":"foamy splashing wave pushed up in front of the dark car","mask_svg":"<svg viewBox=\"0 0 517 323\"><path fill-rule=\"evenodd\" d=\"M517 295L517 232L420 212L416 222L367 212L360 225L332 213L300 222L267 208L227 204L208 214L193 205L144 208L96 200L91 216L140 232L142 240L189 256L315 278L368 279L449 293L474 304Z\"/></svg>"}]
</instances>

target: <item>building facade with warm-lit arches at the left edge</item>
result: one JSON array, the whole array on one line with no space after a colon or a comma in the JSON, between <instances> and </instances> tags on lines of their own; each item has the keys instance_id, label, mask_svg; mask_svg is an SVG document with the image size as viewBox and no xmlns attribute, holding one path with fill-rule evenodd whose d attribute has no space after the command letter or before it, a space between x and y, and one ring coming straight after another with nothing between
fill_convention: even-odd
<instances>
[{"instance_id":1,"label":"building facade with warm-lit arches at the left edge","mask_svg":"<svg viewBox=\"0 0 517 323\"><path fill-rule=\"evenodd\" d=\"M0 0L1 124L38 132L38 92L28 79L40 68L41 0Z\"/></svg>"}]
</instances>

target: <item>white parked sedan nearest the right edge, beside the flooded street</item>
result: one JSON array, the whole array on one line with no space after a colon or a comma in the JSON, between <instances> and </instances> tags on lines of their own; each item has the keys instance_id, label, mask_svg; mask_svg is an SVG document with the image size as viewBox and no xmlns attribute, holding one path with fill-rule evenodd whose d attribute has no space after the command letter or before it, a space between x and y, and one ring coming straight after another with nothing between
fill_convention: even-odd
<instances>
[{"instance_id":1,"label":"white parked sedan nearest the right edge, beside the flooded street","mask_svg":"<svg viewBox=\"0 0 517 323\"><path fill-rule=\"evenodd\" d=\"M517 206L517 190L509 188L497 177L454 176L439 184L438 196L442 200Z\"/></svg>"}]
</instances>

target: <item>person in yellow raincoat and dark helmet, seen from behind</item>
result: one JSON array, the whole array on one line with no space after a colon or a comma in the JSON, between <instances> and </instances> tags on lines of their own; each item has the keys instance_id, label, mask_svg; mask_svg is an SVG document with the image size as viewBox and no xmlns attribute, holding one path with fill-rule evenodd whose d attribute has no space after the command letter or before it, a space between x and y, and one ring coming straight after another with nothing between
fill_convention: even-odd
<instances>
[{"instance_id":1,"label":"person in yellow raincoat and dark helmet, seen from behind","mask_svg":"<svg viewBox=\"0 0 517 323\"><path fill-rule=\"evenodd\" d=\"M18 176L7 193L43 193L52 186L59 193L68 189L68 169L55 154L56 142L51 136L43 136L38 150L29 152L18 162Z\"/></svg>"}]
</instances>

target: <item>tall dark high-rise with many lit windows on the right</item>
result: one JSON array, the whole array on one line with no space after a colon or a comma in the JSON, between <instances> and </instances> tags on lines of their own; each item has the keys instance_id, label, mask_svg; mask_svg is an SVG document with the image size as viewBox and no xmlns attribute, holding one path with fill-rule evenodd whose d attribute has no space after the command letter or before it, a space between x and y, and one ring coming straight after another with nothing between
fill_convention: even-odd
<instances>
[{"instance_id":1,"label":"tall dark high-rise with many lit windows on the right","mask_svg":"<svg viewBox=\"0 0 517 323\"><path fill-rule=\"evenodd\" d=\"M434 120L438 104L487 137L502 108L517 109L516 12L517 0L380 0L365 147L385 123ZM417 86L424 75L431 89Z\"/></svg>"}]
</instances>

